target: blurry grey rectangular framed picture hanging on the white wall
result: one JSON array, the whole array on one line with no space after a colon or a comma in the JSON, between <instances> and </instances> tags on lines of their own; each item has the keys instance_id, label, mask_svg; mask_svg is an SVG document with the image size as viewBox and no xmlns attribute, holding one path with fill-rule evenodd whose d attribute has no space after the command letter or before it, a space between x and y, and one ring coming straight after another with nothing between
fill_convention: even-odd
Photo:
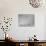
<instances>
[{"instance_id":1,"label":"blurry grey rectangular framed picture hanging on the white wall","mask_svg":"<svg viewBox=\"0 0 46 46\"><path fill-rule=\"evenodd\" d=\"M18 25L21 27L32 27L35 24L35 16L33 14L19 14Z\"/></svg>"}]
</instances>

